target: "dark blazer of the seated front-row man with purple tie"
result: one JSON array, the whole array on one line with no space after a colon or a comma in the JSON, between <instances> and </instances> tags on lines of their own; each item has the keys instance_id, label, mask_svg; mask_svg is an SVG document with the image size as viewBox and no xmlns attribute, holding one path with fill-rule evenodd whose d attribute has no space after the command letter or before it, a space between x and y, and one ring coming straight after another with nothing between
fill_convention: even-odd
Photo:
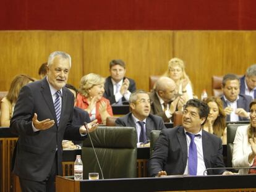
<instances>
[{"instance_id":1,"label":"dark blazer of the seated front-row man with purple tie","mask_svg":"<svg viewBox=\"0 0 256 192\"><path fill-rule=\"evenodd\" d=\"M202 131L203 159L206 168L224 167L222 142L217 136ZM154 177L161 170L167 175L182 175L187 165L187 140L182 126L161 131L148 162L148 174ZM207 174L222 174L225 170L208 170Z\"/></svg>"}]
</instances>

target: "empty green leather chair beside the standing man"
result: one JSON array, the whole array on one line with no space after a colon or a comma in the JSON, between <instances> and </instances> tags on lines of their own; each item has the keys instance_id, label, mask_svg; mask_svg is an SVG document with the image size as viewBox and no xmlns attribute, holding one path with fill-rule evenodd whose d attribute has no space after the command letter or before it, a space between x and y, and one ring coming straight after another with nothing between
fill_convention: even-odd
<instances>
[{"instance_id":1,"label":"empty green leather chair beside the standing man","mask_svg":"<svg viewBox=\"0 0 256 192\"><path fill-rule=\"evenodd\" d=\"M90 133L104 178L126 178L137 175L137 132L134 127L98 127ZM98 172L90 139L83 141L83 178ZM100 174L101 178L101 174Z\"/></svg>"}]
</instances>

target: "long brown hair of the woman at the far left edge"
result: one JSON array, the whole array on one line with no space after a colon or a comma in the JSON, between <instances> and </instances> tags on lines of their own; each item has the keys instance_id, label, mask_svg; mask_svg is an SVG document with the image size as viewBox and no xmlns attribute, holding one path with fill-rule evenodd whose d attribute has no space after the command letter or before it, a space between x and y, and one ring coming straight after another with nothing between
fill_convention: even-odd
<instances>
[{"instance_id":1,"label":"long brown hair of the woman at the far left edge","mask_svg":"<svg viewBox=\"0 0 256 192\"><path fill-rule=\"evenodd\" d=\"M20 74L14 77L6 95L6 98L11 102L11 104L17 101L22 86L27 85L30 81L34 80L28 75Z\"/></svg>"}]
</instances>

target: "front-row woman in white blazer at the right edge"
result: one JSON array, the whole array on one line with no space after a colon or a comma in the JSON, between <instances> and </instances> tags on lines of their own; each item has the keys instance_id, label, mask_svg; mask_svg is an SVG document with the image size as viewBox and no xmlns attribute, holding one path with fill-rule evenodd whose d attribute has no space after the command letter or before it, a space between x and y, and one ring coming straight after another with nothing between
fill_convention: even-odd
<instances>
[{"instance_id":1,"label":"front-row woman in white blazer at the right edge","mask_svg":"<svg viewBox=\"0 0 256 192\"><path fill-rule=\"evenodd\" d=\"M250 102L250 125L237 128L234 138L233 167L256 166L256 99ZM256 173L255 169L239 169L240 174Z\"/></svg>"}]
</instances>

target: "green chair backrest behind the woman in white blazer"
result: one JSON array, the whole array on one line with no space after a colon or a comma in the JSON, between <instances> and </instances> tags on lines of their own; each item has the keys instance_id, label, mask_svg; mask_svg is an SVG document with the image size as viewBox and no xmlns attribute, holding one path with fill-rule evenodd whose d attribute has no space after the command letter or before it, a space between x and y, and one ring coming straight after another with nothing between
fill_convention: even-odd
<instances>
[{"instance_id":1,"label":"green chair backrest behind the woman in white blazer","mask_svg":"<svg viewBox=\"0 0 256 192\"><path fill-rule=\"evenodd\" d=\"M233 142L236 136L237 127L242 126L245 124L228 124L227 125L227 166L233 167L232 159L233 159Z\"/></svg>"}]
</instances>

